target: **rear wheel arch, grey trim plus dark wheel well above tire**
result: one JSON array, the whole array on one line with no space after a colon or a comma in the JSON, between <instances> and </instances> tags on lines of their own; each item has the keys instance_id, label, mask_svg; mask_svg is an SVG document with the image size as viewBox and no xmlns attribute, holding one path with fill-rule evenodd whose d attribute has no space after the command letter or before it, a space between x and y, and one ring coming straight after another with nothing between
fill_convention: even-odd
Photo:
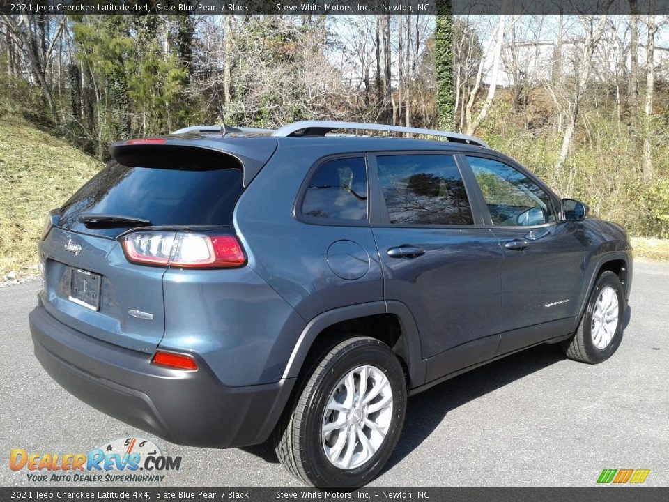
<instances>
[{"instance_id":1,"label":"rear wheel arch, grey trim plus dark wheel well above tire","mask_svg":"<svg viewBox=\"0 0 669 502\"><path fill-rule=\"evenodd\" d=\"M380 329L384 324L387 324L387 330ZM367 330L355 334L374 337L390 346L406 371L408 388L425 383L418 329L408 307L399 301L360 303L318 314L300 333L282 378L298 377L300 370L309 363L312 349L318 348L319 344L328 344L328 335L353 326L367 326ZM332 342L335 341L333 338Z\"/></svg>"}]
</instances>

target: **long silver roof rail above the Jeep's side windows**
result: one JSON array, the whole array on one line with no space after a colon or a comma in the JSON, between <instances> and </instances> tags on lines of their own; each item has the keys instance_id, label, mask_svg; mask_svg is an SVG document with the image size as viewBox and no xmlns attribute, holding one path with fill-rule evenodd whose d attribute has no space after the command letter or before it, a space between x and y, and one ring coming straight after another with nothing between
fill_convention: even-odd
<instances>
[{"instance_id":1,"label":"long silver roof rail above the Jeep's side windows","mask_svg":"<svg viewBox=\"0 0 669 502\"><path fill-rule=\"evenodd\" d=\"M409 128L403 126L385 126L384 124L360 123L360 122L337 122L337 121L300 121L289 123L272 132L272 136L324 136L335 129L357 129L357 130L380 130L388 132L410 132L427 136L445 137L449 142L466 143L476 146L490 148L486 142L477 137L463 135L459 132L445 132L433 129Z\"/></svg>"}]
</instances>

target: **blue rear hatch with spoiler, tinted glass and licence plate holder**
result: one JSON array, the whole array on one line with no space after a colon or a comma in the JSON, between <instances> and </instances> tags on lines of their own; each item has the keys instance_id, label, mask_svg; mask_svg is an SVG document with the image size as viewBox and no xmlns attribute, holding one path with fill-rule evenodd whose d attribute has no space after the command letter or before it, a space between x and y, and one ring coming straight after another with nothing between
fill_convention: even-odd
<instances>
[{"instance_id":1,"label":"blue rear hatch with spoiler, tinted glass and licence plate holder","mask_svg":"<svg viewBox=\"0 0 669 502\"><path fill-rule=\"evenodd\" d=\"M124 146L54 211L54 226L40 242L43 303L86 335L153 352L164 334L167 266L131 263L121 239L137 228L233 233L236 201L250 181L243 160L257 172L274 147L258 149L261 158L253 160L194 146Z\"/></svg>"}]
</instances>

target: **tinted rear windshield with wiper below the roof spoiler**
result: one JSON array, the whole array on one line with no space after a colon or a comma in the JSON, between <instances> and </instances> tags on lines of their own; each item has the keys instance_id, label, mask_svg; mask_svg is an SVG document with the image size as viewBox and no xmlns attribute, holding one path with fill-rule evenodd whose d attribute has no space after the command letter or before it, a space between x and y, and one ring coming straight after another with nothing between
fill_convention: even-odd
<instances>
[{"instance_id":1,"label":"tinted rear windshield with wiper below the roof spoiler","mask_svg":"<svg viewBox=\"0 0 669 502\"><path fill-rule=\"evenodd\" d=\"M79 215L123 215L151 225L232 225L241 169L158 169L111 162L63 205L59 227L116 237L128 228L87 228Z\"/></svg>"}]
</instances>

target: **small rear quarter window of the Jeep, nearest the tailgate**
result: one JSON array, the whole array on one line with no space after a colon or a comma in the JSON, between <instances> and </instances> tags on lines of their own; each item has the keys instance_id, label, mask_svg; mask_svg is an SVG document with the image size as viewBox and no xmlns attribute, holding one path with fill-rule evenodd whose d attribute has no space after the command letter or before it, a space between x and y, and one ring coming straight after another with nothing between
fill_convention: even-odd
<instances>
[{"instance_id":1,"label":"small rear quarter window of the Jeep, nearest the tailgate","mask_svg":"<svg viewBox=\"0 0 669 502\"><path fill-rule=\"evenodd\" d=\"M367 169L364 158L325 162L309 180L302 215L323 220L367 219Z\"/></svg>"}]
</instances>

